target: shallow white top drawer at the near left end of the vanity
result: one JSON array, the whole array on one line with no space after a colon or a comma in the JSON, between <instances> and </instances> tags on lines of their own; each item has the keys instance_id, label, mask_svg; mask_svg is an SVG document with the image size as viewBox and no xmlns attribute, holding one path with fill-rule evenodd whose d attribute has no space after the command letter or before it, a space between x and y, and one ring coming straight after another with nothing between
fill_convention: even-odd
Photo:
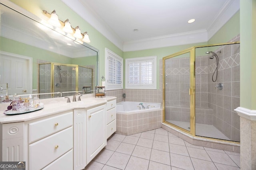
<instances>
[{"instance_id":1,"label":"shallow white top drawer at the near left end of the vanity","mask_svg":"<svg viewBox=\"0 0 256 170\"><path fill-rule=\"evenodd\" d=\"M72 126L73 112L64 113L41 121L28 124L28 142L51 135Z\"/></svg>"}]
</instances>

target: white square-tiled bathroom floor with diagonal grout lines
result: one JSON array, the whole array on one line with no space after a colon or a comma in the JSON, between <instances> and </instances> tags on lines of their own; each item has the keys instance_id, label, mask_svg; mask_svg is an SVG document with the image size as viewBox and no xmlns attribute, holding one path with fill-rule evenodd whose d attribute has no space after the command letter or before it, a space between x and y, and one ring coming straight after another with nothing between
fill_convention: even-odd
<instances>
[{"instance_id":1,"label":"white square-tiled bathroom floor with diagonal grout lines","mask_svg":"<svg viewBox=\"0 0 256 170\"><path fill-rule=\"evenodd\" d=\"M240 154L199 147L160 128L115 134L84 170L239 170Z\"/></svg>"}]
</instances>

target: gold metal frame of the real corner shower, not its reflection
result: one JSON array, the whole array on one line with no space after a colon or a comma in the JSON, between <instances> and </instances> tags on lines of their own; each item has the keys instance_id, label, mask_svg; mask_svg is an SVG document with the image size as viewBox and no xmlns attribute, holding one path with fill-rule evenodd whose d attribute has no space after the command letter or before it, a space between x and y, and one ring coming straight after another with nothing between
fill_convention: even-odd
<instances>
[{"instance_id":1,"label":"gold metal frame of the real corner shower, not its reflection","mask_svg":"<svg viewBox=\"0 0 256 170\"><path fill-rule=\"evenodd\" d=\"M205 138L205 139L213 139L216 141L226 141L223 139L214 139L210 137L201 137L201 136L196 136L196 96L195 96L195 87L196 87L196 71L195 71L195 62L196 62L196 48L202 48L202 47L214 47L214 46L220 46L220 45L232 45L232 44L238 44L238 42L232 42L232 43L221 43L221 44L214 44L214 45L202 45L202 46L195 46L195 47L190 47L188 49L185 49L183 51L174 53L172 55L168 55L166 57L163 57L163 123L166 123L172 127L175 127L176 129L179 129L180 131L187 133L189 135L192 135L193 137L200 137L200 138ZM173 57L177 57L179 55L185 54L185 53L190 53L190 88L188 89L188 93L190 94L190 131L183 129L182 127L179 127L177 125L174 125L168 121L165 120L165 60L170 59ZM230 143L239 143L235 141L226 141Z\"/></svg>"}]
</instances>

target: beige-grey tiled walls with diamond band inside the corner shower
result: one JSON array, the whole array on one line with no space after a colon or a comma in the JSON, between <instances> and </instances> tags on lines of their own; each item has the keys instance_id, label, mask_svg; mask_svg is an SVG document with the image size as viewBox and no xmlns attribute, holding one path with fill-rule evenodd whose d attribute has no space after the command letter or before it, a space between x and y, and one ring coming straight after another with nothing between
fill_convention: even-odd
<instances>
[{"instance_id":1,"label":"beige-grey tiled walls with diamond band inside the corner shower","mask_svg":"<svg viewBox=\"0 0 256 170\"><path fill-rule=\"evenodd\" d=\"M240 35L230 42L239 39ZM222 53L217 53L220 50ZM240 141L240 119L234 112L240 104L240 44L222 46L214 52L219 57L216 82L212 82L216 59L209 59L210 55L196 56L196 123L214 125L232 141ZM166 62L165 102L175 107L165 107L166 113L173 113L169 117L166 114L166 119L189 121L186 119L189 113L182 111L189 106L189 96L186 96L190 83L186 64L189 61L186 58L171 60ZM224 84L222 90L215 89L219 82Z\"/></svg>"}]
</instances>

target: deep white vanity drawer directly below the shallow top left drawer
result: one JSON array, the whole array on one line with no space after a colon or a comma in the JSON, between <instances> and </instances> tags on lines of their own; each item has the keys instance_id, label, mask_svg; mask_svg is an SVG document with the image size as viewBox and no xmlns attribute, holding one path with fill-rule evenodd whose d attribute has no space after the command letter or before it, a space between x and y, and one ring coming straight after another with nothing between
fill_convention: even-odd
<instances>
[{"instance_id":1,"label":"deep white vanity drawer directly below the shallow top left drawer","mask_svg":"<svg viewBox=\"0 0 256 170\"><path fill-rule=\"evenodd\" d=\"M73 147L73 128L69 127L28 145L30 170L42 169Z\"/></svg>"}]
</instances>

